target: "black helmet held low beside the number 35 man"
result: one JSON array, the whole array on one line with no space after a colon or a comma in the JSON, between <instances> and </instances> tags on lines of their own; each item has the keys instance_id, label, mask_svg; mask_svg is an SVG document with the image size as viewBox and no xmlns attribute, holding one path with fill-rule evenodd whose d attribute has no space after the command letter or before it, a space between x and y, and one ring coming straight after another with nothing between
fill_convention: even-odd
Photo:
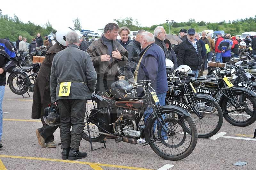
<instances>
[{"instance_id":1,"label":"black helmet held low beside the number 35 man","mask_svg":"<svg viewBox=\"0 0 256 170\"><path fill-rule=\"evenodd\" d=\"M57 126L60 124L59 107L51 106L44 109L44 122L49 126Z\"/></svg>"}]
</instances>

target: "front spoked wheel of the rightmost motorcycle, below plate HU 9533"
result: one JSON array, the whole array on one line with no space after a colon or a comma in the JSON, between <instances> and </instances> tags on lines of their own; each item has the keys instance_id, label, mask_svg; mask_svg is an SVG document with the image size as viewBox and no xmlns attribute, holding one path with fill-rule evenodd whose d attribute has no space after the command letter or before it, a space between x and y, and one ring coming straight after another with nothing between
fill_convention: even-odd
<instances>
[{"instance_id":1,"label":"front spoked wheel of the rightmost motorcycle, below plate HU 9533","mask_svg":"<svg viewBox=\"0 0 256 170\"><path fill-rule=\"evenodd\" d=\"M223 117L234 126L251 125L256 120L255 97L240 92L233 92L233 96L233 100L225 97L222 102Z\"/></svg>"}]
</instances>

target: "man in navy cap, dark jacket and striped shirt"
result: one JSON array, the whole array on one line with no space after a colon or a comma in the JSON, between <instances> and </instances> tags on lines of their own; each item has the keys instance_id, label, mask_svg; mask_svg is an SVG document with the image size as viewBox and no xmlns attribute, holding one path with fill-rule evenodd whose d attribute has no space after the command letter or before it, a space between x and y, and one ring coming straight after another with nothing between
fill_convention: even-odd
<instances>
[{"instance_id":1,"label":"man in navy cap, dark jacket and striped shirt","mask_svg":"<svg viewBox=\"0 0 256 170\"><path fill-rule=\"evenodd\" d=\"M203 60L201 55L202 47L201 44L195 39L195 34L195 29L188 29L187 39L179 45L177 62L178 66L183 64L188 65L192 72L196 73L195 78L197 78Z\"/></svg>"}]
</instances>

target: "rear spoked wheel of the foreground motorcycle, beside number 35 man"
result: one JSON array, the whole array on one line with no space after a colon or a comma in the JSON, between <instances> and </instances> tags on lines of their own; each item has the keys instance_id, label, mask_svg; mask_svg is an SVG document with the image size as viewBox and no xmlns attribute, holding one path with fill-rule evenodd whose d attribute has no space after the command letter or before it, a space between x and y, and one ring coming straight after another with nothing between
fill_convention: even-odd
<instances>
[{"instance_id":1,"label":"rear spoked wheel of the foreground motorcycle, beside number 35 man","mask_svg":"<svg viewBox=\"0 0 256 170\"><path fill-rule=\"evenodd\" d=\"M107 114L105 114L103 107L100 107L100 104L98 102L93 99L86 100L86 111L84 117L85 127L82 135L84 140L90 141L87 124L89 125L90 130L107 133L106 131L109 131L110 128L109 122L109 117L107 116ZM106 135L102 135L92 131L90 131L90 135L92 142L100 142L106 137Z\"/></svg>"}]
</instances>

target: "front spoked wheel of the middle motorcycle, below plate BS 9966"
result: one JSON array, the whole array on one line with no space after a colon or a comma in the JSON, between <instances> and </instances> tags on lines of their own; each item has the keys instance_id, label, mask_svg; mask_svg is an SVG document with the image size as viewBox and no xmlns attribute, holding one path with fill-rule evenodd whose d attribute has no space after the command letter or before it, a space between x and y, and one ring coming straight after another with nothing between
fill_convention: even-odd
<instances>
[{"instance_id":1,"label":"front spoked wheel of the middle motorcycle, below plate BS 9966","mask_svg":"<svg viewBox=\"0 0 256 170\"><path fill-rule=\"evenodd\" d=\"M196 125L198 138L208 138L215 135L223 123L223 113L219 104L200 97L195 98L194 101L194 109L202 115L199 118L195 112L191 112L191 117Z\"/></svg>"}]
</instances>

